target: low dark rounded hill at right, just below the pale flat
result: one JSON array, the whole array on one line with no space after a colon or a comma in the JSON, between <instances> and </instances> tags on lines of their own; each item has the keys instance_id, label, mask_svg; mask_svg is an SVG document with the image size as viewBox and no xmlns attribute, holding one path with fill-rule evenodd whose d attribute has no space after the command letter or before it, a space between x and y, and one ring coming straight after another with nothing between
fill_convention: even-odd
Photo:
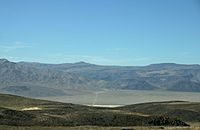
<instances>
[{"instance_id":1,"label":"low dark rounded hill at right, just below the pale flat","mask_svg":"<svg viewBox=\"0 0 200 130\"><path fill-rule=\"evenodd\" d=\"M169 116L186 122L200 122L200 103L186 101L152 102L121 107L120 110L154 116Z\"/></svg>"}]
</instances>

